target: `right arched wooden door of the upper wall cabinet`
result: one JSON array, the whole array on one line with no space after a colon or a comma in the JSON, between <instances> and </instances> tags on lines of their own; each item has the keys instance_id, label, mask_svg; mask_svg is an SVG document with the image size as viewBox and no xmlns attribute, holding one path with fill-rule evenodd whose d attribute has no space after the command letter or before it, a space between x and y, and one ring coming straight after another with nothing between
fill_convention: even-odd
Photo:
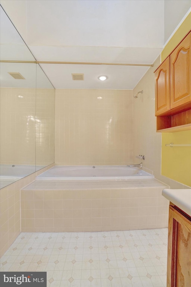
<instances>
[{"instance_id":1,"label":"right arched wooden door of the upper wall cabinet","mask_svg":"<svg viewBox=\"0 0 191 287\"><path fill-rule=\"evenodd\" d=\"M191 32L170 55L170 108L191 102Z\"/></svg>"}]
</instances>

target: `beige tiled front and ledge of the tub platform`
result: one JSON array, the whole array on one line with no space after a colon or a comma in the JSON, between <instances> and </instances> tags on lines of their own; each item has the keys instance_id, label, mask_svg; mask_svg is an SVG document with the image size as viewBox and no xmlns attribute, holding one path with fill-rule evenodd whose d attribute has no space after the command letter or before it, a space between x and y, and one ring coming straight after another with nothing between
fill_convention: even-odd
<instances>
[{"instance_id":1,"label":"beige tiled front and ledge of the tub platform","mask_svg":"<svg viewBox=\"0 0 191 287\"><path fill-rule=\"evenodd\" d=\"M21 190L21 231L167 227L169 202L161 196L164 188L165 185L155 179L34 181Z\"/></svg>"}]
</instances>

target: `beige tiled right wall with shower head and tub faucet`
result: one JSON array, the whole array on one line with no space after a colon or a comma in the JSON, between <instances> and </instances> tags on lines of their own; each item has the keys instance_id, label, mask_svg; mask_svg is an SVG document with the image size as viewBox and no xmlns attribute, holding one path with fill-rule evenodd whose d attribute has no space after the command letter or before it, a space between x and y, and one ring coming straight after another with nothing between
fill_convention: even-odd
<instances>
[{"instance_id":1,"label":"beige tiled right wall with shower head and tub faucet","mask_svg":"<svg viewBox=\"0 0 191 287\"><path fill-rule=\"evenodd\" d=\"M155 117L155 74L154 71L160 65L160 57L154 62L133 89L133 161L139 163L136 155L145 155L143 169L152 171L155 178L165 182L170 188L188 188L186 185L161 175L161 133L156 132ZM168 143L166 143L168 144Z\"/></svg>"}]
</instances>

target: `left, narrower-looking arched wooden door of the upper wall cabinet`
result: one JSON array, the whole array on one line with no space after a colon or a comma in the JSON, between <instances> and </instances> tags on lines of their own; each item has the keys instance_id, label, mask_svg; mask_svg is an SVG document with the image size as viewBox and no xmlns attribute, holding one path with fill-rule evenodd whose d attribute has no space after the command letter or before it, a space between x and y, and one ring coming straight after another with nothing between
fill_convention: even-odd
<instances>
[{"instance_id":1,"label":"left, narrower-looking arched wooden door of the upper wall cabinet","mask_svg":"<svg viewBox=\"0 0 191 287\"><path fill-rule=\"evenodd\" d=\"M155 115L170 110L170 57L155 71Z\"/></svg>"}]
</instances>

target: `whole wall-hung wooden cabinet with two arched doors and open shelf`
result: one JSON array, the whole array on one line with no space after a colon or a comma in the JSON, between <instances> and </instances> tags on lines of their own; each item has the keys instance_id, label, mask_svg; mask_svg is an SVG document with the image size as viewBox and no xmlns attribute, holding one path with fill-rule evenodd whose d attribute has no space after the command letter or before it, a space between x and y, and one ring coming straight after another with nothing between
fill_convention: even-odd
<instances>
[{"instance_id":1,"label":"whole wall-hung wooden cabinet with two arched doors and open shelf","mask_svg":"<svg viewBox=\"0 0 191 287\"><path fill-rule=\"evenodd\" d=\"M191 128L191 32L155 71L157 132Z\"/></svg>"}]
</instances>

